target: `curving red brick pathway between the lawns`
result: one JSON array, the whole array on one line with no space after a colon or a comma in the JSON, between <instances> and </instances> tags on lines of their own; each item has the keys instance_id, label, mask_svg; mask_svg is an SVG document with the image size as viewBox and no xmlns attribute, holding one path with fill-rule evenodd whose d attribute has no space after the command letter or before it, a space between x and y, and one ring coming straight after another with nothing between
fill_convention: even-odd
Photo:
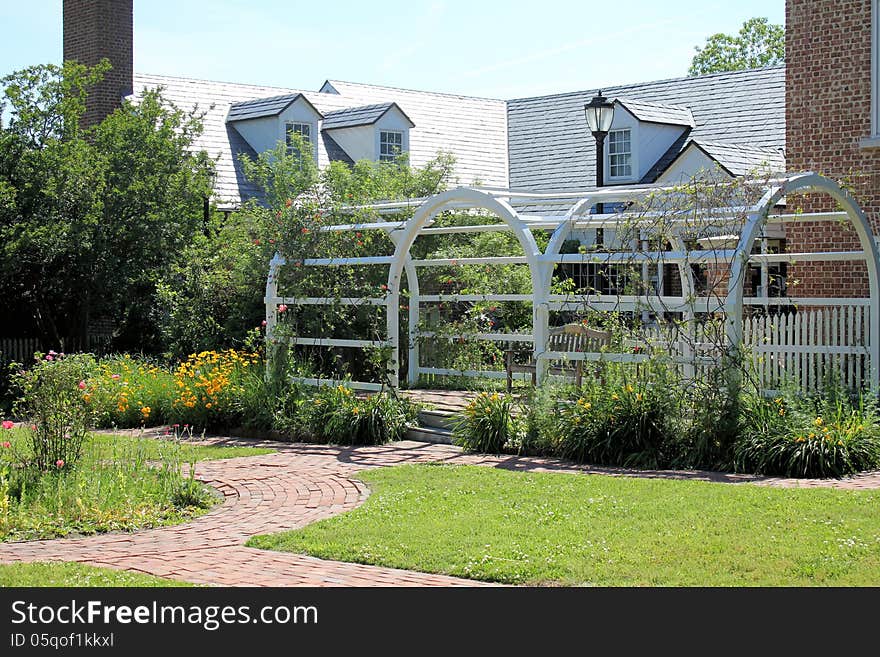
<instances>
[{"instance_id":1,"label":"curving red brick pathway between the lawns","mask_svg":"<svg viewBox=\"0 0 880 657\"><path fill-rule=\"evenodd\" d=\"M205 442L266 446L278 452L197 464L199 479L219 490L225 502L192 522L134 533L0 543L0 563L79 561L221 586L478 585L473 580L244 547L244 542L255 534L295 529L353 509L369 495L366 486L354 479L358 471L403 463L441 461L530 472L880 488L880 472L843 480L787 480L710 472L596 468L551 458L462 454L451 445L407 441L381 447L288 445L237 438L212 438Z\"/></svg>"}]
</instances>

